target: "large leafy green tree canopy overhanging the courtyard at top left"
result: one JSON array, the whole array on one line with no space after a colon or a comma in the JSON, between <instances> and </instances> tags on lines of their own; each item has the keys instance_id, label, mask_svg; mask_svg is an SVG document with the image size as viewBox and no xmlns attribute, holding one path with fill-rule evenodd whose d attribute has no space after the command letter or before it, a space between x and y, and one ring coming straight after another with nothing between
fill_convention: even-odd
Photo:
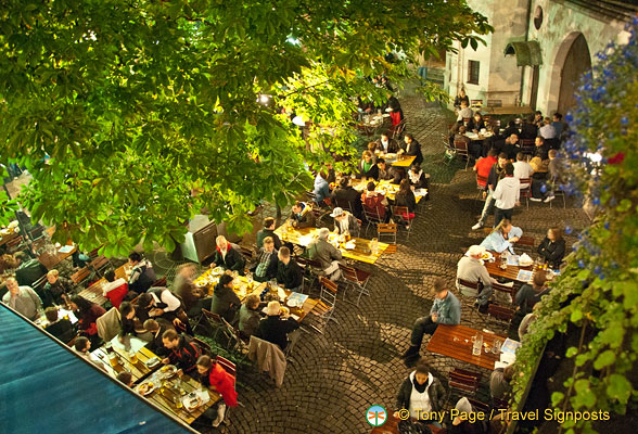
<instances>
[{"instance_id":1,"label":"large leafy green tree canopy overhanging the courtyard at top left","mask_svg":"<svg viewBox=\"0 0 638 434\"><path fill-rule=\"evenodd\" d=\"M390 51L492 29L461 0L1 3L2 157L33 174L35 219L107 255L171 248L201 208L246 229L311 186L306 162L347 154L355 97L386 98L366 77L406 75Z\"/></svg>"}]
</instances>

